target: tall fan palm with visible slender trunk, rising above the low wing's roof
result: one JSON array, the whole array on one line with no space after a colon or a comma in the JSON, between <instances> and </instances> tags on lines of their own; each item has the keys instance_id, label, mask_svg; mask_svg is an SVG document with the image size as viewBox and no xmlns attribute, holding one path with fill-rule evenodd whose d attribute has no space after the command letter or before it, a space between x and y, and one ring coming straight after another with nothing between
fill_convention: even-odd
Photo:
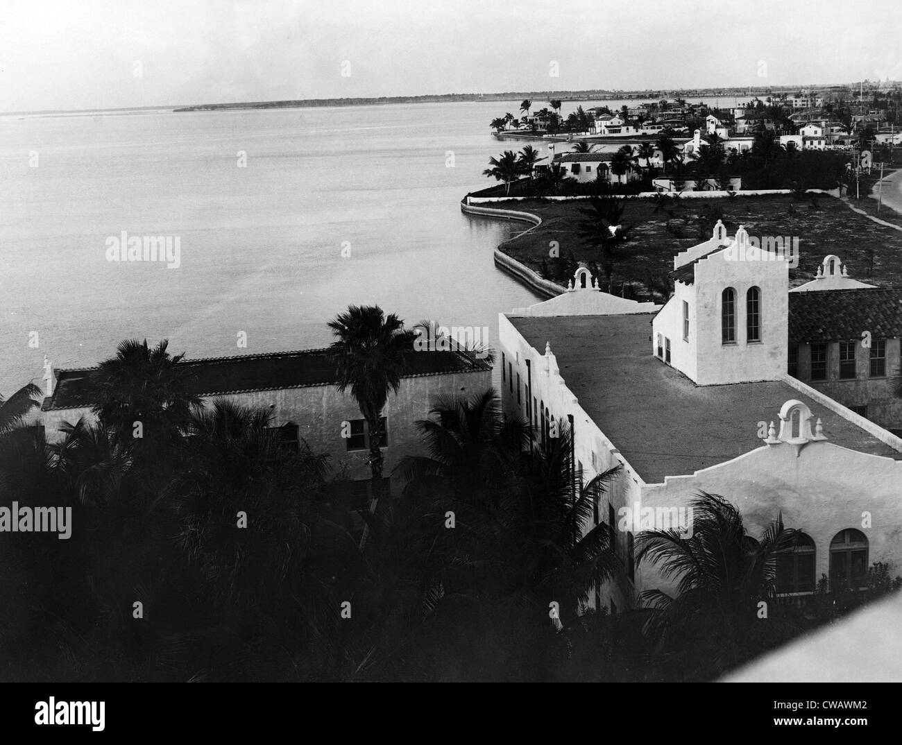
<instances>
[{"instance_id":1,"label":"tall fan palm with visible slender trunk, rising above the low wing's roof","mask_svg":"<svg viewBox=\"0 0 902 745\"><path fill-rule=\"evenodd\" d=\"M351 391L369 430L374 508L382 494L380 417L389 393L400 387L411 336L399 317L386 316L379 306L349 306L328 327L336 336L331 349L336 354L338 391Z\"/></svg>"}]
</instances>

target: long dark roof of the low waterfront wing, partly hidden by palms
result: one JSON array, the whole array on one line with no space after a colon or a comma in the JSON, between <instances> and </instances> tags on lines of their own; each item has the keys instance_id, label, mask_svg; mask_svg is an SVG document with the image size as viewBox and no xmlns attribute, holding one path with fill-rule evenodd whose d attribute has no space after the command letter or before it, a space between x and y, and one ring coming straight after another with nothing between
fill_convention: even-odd
<instances>
[{"instance_id":1,"label":"long dark roof of the low waterfront wing, partly hidden by palms","mask_svg":"<svg viewBox=\"0 0 902 745\"><path fill-rule=\"evenodd\" d=\"M337 381L335 355L328 348L207 357L185 360L179 365L188 369L186 388L196 396L307 388ZM484 360L456 351L410 350L406 354L406 365L407 372L402 376L405 378L492 369ZM44 400L42 410L81 409L97 403L99 368L57 370L55 373L57 382L53 396Z\"/></svg>"}]
</instances>

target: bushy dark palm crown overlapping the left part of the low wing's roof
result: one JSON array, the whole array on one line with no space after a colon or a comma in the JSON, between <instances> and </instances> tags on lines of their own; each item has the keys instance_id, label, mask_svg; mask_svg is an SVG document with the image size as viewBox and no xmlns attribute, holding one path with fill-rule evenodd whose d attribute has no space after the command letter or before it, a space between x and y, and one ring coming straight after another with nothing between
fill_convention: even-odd
<instances>
[{"instance_id":1,"label":"bushy dark palm crown overlapping the left part of the low wing's roof","mask_svg":"<svg viewBox=\"0 0 902 745\"><path fill-rule=\"evenodd\" d=\"M191 410L200 405L190 392L190 369L181 364L185 353L172 356L168 347L166 339L152 348L147 339L128 339L116 347L115 357L100 363L93 411L120 442L177 441ZM133 437L136 422L142 425L140 440Z\"/></svg>"}]
</instances>

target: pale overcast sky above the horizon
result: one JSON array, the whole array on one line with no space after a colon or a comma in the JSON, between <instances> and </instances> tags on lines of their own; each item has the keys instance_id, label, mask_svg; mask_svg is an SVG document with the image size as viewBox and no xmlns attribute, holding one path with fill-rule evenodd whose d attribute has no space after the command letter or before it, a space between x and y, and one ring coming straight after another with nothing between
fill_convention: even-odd
<instances>
[{"instance_id":1,"label":"pale overcast sky above the horizon","mask_svg":"<svg viewBox=\"0 0 902 745\"><path fill-rule=\"evenodd\" d=\"M899 79L899 8L898 0L0 0L0 111Z\"/></svg>"}]
</instances>

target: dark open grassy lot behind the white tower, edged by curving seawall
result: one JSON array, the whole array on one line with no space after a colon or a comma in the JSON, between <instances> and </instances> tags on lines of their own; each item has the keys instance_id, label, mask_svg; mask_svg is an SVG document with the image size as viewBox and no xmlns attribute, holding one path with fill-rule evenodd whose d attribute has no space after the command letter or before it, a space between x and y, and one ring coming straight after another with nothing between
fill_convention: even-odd
<instances>
[{"instance_id":1,"label":"dark open grassy lot behind the white tower, edged by curving seawall","mask_svg":"<svg viewBox=\"0 0 902 745\"><path fill-rule=\"evenodd\" d=\"M650 199L629 199L622 222L633 229L630 241L623 247L623 258L614 266L614 291L620 294L622 287L627 297L648 299L650 281L659 289L659 298L667 272L673 268L674 255L710 238L708 225L718 217L723 219L728 235L745 225L749 235L798 236L799 265L789 272L792 287L813 279L828 253L837 254L848 264L851 277L881 286L902 285L902 233L855 214L840 199L817 195L813 200L811 196L682 199L670 207L672 214L664 210L656 213ZM529 200L494 206L531 212L542 218L537 228L499 248L548 279L566 284L569 278L562 279L560 272L569 252L576 262L598 261L597 251L579 235L584 202ZM886 207L880 213L884 219L894 214ZM549 258L551 241L560 244L562 260ZM603 275L599 281L604 282Z\"/></svg>"}]
</instances>

